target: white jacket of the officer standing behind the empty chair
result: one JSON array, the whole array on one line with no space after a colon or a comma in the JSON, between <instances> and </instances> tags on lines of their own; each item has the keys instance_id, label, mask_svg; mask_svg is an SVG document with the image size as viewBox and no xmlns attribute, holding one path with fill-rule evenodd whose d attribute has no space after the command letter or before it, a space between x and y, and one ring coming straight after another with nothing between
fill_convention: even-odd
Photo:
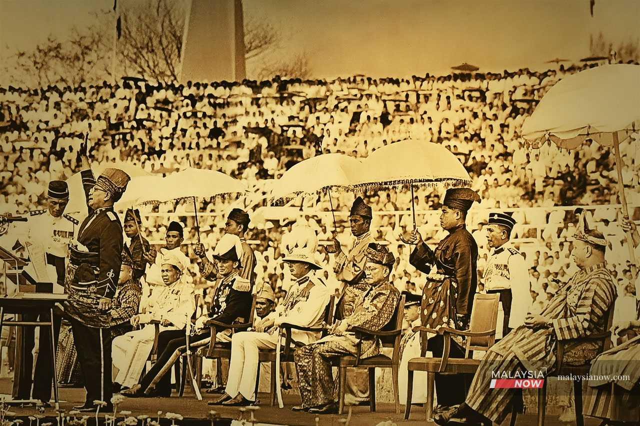
<instances>
[{"instance_id":1,"label":"white jacket of the officer standing behind the empty chair","mask_svg":"<svg viewBox=\"0 0 640 426\"><path fill-rule=\"evenodd\" d=\"M483 275L484 291L511 289L511 312L509 328L524 324L524 318L531 309L531 292L529 292L529 269L524 256L507 241L497 249L492 249L486 262ZM497 336L502 337L502 303L498 312Z\"/></svg>"}]
</instances>

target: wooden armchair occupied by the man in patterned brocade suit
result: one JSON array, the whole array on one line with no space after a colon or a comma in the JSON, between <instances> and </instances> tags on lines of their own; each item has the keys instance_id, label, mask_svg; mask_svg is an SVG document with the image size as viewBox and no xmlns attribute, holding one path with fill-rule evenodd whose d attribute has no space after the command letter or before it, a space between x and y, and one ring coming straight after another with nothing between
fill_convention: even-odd
<instances>
[{"instance_id":1,"label":"wooden armchair occupied by the man in patterned brocade suit","mask_svg":"<svg viewBox=\"0 0 640 426\"><path fill-rule=\"evenodd\" d=\"M400 413L400 401L398 395L398 371L400 368L400 341L402 339L402 324L404 320L404 296L402 296L397 305L394 316L380 331L372 331L362 327L353 327L351 330L355 332L356 338L362 339L363 336L369 336L380 339L382 347L393 348L391 358L386 355L379 354L369 358L360 358L360 344L358 344L358 353L353 355L337 356L332 359L333 367L338 367L338 413L344 413L344 393L347 383L347 367L367 368L369 370L369 409L376 411L376 368L391 368L394 386L394 402L396 404L396 413Z\"/></svg>"}]
</instances>

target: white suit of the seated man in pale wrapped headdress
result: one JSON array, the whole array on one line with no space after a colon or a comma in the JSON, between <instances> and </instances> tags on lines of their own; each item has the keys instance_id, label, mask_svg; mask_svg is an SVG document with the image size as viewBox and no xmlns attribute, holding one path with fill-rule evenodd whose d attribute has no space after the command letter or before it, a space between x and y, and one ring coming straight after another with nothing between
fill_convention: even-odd
<instances>
[{"instance_id":1,"label":"white suit of the seated man in pale wrapped headdress","mask_svg":"<svg viewBox=\"0 0 640 426\"><path fill-rule=\"evenodd\" d=\"M195 310L193 286L184 281L184 276L172 285L154 288L147 301L147 312L141 314L143 322L169 320L172 326L160 326L160 331L179 330ZM111 343L113 366L118 368L115 383L131 388L138 383L142 370L154 345L156 326L146 324L140 330L117 336Z\"/></svg>"}]
</instances>

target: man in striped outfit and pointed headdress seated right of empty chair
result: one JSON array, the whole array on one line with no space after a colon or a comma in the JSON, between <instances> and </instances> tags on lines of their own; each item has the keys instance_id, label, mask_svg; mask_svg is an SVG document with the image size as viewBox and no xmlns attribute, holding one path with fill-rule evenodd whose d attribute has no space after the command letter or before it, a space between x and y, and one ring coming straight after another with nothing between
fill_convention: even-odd
<instances>
[{"instance_id":1,"label":"man in striped outfit and pointed headdress seated right of empty chair","mask_svg":"<svg viewBox=\"0 0 640 426\"><path fill-rule=\"evenodd\" d=\"M606 313L616 299L614 278L605 266L607 241L601 232L588 228L584 216L580 216L574 237L572 257L579 271L539 315L527 315L523 326L486 352L465 402L436 414L438 425L453 418L502 423L517 393L515 389L490 388L493 374L515 377L523 371L552 371L559 340L573 341L565 349L567 364L584 365L602 350L602 342L580 338L604 331Z\"/></svg>"}]
</instances>

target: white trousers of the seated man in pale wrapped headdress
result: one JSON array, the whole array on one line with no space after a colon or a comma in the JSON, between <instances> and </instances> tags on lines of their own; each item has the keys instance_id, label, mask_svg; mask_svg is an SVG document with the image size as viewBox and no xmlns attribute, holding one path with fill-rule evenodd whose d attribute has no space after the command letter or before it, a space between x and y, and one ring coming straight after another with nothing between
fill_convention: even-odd
<instances>
[{"instance_id":1,"label":"white trousers of the seated man in pale wrapped headdress","mask_svg":"<svg viewBox=\"0 0 640 426\"><path fill-rule=\"evenodd\" d=\"M160 326L160 331L175 329L175 327ZM118 374L113 378L125 388L131 388L140 380L142 370L154 347L156 326L147 324L140 330L129 331L113 339L111 343L111 358L113 367L118 368Z\"/></svg>"}]
</instances>

